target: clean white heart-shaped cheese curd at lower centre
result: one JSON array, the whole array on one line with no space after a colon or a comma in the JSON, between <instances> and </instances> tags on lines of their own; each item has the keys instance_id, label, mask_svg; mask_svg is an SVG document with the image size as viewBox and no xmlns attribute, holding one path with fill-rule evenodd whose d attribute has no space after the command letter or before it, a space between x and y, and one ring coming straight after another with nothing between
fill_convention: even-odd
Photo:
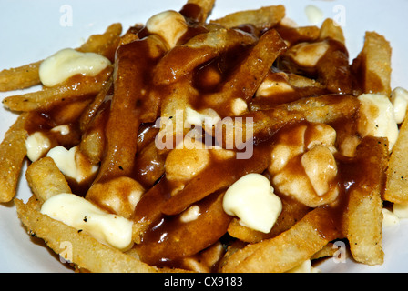
<instances>
[{"instance_id":1,"label":"clean white heart-shaped cheese curd at lower centre","mask_svg":"<svg viewBox=\"0 0 408 291\"><path fill-rule=\"evenodd\" d=\"M238 216L242 225L269 233L280 216L282 203L273 193L268 178L248 174L228 188L223 208L228 215Z\"/></svg>"}]
</instances>

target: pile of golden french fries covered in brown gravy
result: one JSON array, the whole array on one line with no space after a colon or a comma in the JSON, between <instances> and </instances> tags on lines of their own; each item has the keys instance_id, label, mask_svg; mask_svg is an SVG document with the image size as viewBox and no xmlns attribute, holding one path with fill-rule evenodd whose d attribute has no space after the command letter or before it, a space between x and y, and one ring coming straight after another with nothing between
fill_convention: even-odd
<instances>
[{"instance_id":1,"label":"pile of golden french fries covered in brown gravy","mask_svg":"<svg viewBox=\"0 0 408 291\"><path fill-rule=\"evenodd\" d=\"M391 98L390 44L367 32L362 52L351 62L342 28L331 19L321 27L291 26L285 7L272 5L208 21L213 7L214 0L189 0L180 7L187 32L173 43L166 39L173 37L168 36L171 25L164 35L145 25L125 33L122 25L110 25L76 48L111 61L98 75L75 75L5 97L5 108L19 116L0 145L0 202L14 200L28 233L44 239L56 254L65 256L61 242L70 242L72 254L65 258L79 272L288 272L305 261L333 256L337 240L347 243L355 261L381 265L382 209L408 204L408 121L389 150L386 137L359 132L357 97ZM296 62L301 45L318 48L303 52L306 60ZM326 47L322 54L319 45ZM41 85L41 63L0 72L0 91ZM232 120L250 117L252 135L245 135L245 122L232 126L252 138L253 155L237 159L236 142L201 149L206 156L178 145L158 148L163 130L157 121L167 118L176 125L179 110ZM225 213L223 196L241 176L262 174L275 186L269 168L277 136L292 126L318 123L337 132L340 190L334 201L305 205L275 187L282 211L269 233ZM56 138L56 145L78 146L90 164L99 166L97 175L81 185L49 156L28 162L22 174L32 128L48 132L59 125L70 125L71 133ZM195 126L216 138L208 127ZM189 133L170 128L176 141ZM190 173L195 170L198 174ZM15 198L22 175L33 193L26 203ZM129 204L128 188L135 185L141 195ZM46 200L61 193L84 196L107 213L131 220L134 245L118 250L42 214ZM182 222L197 206L205 211Z\"/></svg>"}]
</instances>

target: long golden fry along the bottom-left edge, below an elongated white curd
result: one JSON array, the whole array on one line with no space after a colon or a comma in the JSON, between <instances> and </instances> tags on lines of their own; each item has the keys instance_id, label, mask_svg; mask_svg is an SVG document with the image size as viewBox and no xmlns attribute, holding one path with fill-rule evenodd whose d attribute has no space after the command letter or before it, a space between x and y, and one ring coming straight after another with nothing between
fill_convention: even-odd
<instances>
[{"instance_id":1,"label":"long golden fry along the bottom-left edge, below an elongated white curd","mask_svg":"<svg viewBox=\"0 0 408 291\"><path fill-rule=\"evenodd\" d=\"M158 272L158 268L105 246L95 238L26 206L19 199L15 199L15 206L29 234L44 239L56 254L71 260L79 268L96 273Z\"/></svg>"}]
</instances>

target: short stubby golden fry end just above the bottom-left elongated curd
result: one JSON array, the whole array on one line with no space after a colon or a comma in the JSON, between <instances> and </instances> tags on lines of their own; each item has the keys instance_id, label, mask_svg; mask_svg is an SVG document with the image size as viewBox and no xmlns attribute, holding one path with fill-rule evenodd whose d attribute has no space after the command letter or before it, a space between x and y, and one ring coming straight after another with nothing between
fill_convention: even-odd
<instances>
[{"instance_id":1,"label":"short stubby golden fry end just above the bottom-left elongated curd","mask_svg":"<svg viewBox=\"0 0 408 291\"><path fill-rule=\"evenodd\" d=\"M71 193L66 177L51 157L43 157L28 166L26 179L40 203L60 193Z\"/></svg>"}]
</instances>

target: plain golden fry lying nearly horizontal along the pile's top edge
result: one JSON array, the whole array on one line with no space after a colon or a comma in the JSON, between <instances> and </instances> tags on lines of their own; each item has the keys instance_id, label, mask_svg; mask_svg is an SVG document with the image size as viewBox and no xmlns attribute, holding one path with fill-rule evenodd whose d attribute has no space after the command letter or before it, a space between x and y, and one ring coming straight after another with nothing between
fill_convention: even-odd
<instances>
[{"instance_id":1,"label":"plain golden fry lying nearly horizontal along the pile's top edge","mask_svg":"<svg viewBox=\"0 0 408 291\"><path fill-rule=\"evenodd\" d=\"M262 30L279 24L284 16L285 6L271 5L256 10L236 12L216 20L211 20L210 22L227 28L238 27L240 25L253 25Z\"/></svg>"}]
</instances>

